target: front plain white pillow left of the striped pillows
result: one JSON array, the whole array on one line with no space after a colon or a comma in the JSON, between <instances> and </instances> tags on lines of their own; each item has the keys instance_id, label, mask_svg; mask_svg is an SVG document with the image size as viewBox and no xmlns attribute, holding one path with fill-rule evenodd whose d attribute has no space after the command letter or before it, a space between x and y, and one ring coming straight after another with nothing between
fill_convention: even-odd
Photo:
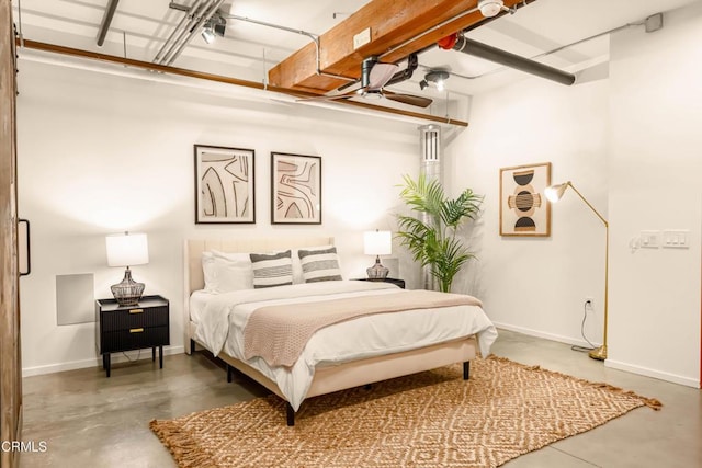
<instances>
[{"instance_id":1,"label":"front plain white pillow left of the striped pillows","mask_svg":"<svg viewBox=\"0 0 702 468\"><path fill-rule=\"evenodd\" d=\"M222 294L253 288L253 271L248 253L213 250L203 252L202 262L206 292Z\"/></svg>"}]
</instances>

